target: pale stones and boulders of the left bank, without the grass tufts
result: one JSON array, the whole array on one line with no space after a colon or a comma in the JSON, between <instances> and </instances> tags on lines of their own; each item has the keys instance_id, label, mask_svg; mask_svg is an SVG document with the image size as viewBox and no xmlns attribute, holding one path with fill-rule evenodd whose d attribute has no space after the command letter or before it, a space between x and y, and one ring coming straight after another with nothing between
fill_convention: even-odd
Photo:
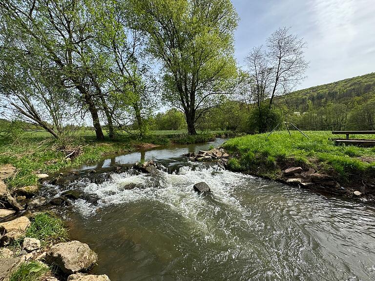
<instances>
[{"instance_id":1,"label":"pale stones and boulders of the left bank, without the grass tufts","mask_svg":"<svg viewBox=\"0 0 375 281\"><path fill-rule=\"evenodd\" d=\"M98 260L97 254L87 244L67 241L42 245L38 239L27 237L27 229L32 223L30 219L35 216L33 208L47 200L40 196L34 197L38 192L37 186L10 191L3 180L12 177L16 169L8 167L0 169L0 281L8 281L22 263L30 261L58 268L57 276L50 273L43 281L109 281L106 275L87 274ZM39 175L40 179L47 177L45 174ZM23 207L17 199L21 202L26 199L29 201ZM21 244L17 246L20 241Z\"/></svg>"}]
</instances>

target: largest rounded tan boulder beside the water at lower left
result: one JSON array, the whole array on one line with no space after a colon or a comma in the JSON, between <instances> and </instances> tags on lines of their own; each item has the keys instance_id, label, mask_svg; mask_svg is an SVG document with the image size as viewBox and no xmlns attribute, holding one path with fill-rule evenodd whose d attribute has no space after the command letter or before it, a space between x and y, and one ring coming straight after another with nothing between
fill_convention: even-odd
<instances>
[{"instance_id":1,"label":"largest rounded tan boulder beside the water at lower left","mask_svg":"<svg viewBox=\"0 0 375 281\"><path fill-rule=\"evenodd\" d=\"M97 254L80 241L56 244L46 254L46 261L51 265L57 265L65 274L85 271L97 260Z\"/></svg>"}]
</instances>

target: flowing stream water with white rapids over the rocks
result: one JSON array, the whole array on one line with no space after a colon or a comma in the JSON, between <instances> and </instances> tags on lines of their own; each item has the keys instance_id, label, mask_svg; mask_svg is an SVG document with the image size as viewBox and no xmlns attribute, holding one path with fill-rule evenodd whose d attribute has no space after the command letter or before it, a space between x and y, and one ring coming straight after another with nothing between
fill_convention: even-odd
<instances>
[{"instance_id":1,"label":"flowing stream water with white rapids over the rocks","mask_svg":"<svg viewBox=\"0 0 375 281\"><path fill-rule=\"evenodd\" d=\"M220 140L213 143L220 144ZM375 280L375 208L188 162L209 144L158 148L84 169L154 159L156 175L129 170L78 185L72 239L99 255L111 281ZM193 191L205 181L211 194ZM136 188L127 190L124 186Z\"/></svg>"}]
</instances>

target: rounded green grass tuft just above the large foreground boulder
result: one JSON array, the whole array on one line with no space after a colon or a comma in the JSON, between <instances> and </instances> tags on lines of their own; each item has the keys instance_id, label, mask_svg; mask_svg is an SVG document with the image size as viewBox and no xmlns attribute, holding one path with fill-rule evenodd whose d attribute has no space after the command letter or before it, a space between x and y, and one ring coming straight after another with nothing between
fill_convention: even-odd
<instances>
[{"instance_id":1,"label":"rounded green grass tuft just above the large foreground boulder","mask_svg":"<svg viewBox=\"0 0 375 281\"><path fill-rule=\"evenodd\" d=\"M27 229L26 237L36 238L46 245L66 241L68 232L59 218L49 213L38 213Z\"/></svg>"}]
</instances>

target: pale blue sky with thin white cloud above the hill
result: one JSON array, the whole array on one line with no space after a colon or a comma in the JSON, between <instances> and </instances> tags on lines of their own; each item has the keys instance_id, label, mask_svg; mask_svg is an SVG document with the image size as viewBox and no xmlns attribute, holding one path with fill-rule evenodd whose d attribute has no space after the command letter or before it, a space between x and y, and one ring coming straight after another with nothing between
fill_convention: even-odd
<instances>
[{"instance_id":1,"label":"pale blue sky with thin white cloud above the hill","mask_svg":"<svg viewBox=\"0 0 375 281\"><path fill-rule=\"evenodd\" d=\"M232 0L239 65L279 27L307 41L307 78L297 89L375 72L375 0Z\"/></svg>"}]
</instances>

